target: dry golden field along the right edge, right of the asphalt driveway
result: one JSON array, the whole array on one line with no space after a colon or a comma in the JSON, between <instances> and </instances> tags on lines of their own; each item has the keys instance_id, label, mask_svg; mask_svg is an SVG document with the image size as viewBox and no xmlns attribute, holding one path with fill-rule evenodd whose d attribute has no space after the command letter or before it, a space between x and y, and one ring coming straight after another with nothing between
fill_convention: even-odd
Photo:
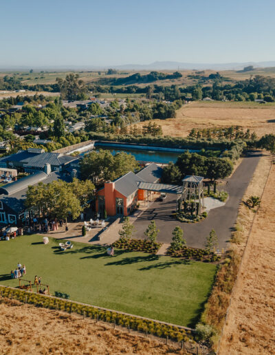
<instances>
[{"instance_id":1,"label":"dry golden field along the right edge, right of the asphalt driveway","mask_svg":"<svg viewBox=\"0 0 275 355\"><path fill-rule=\"evenodd\" d=\"M275 354L275 165L254 219L219 354Z\"/></svg>"}]
</instances>

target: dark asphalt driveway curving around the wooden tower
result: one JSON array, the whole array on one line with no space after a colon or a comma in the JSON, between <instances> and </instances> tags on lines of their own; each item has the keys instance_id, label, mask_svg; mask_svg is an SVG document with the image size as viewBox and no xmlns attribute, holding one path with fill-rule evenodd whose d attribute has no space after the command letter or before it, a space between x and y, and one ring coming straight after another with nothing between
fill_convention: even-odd
<instances>
[{"instance_id":1,"label":"dark asphalt driveway curving around the wooden tower","mask_svg":"<svg viewBox=\"0 0 275 355\"><path fill-rule=\"evenodd\" d=\"M184 238L188 246L202 248L206 235L210 233L211 229L214 229L219 239L219 248L226 248L232 230L234 230L239 204L260 158L261 153L258 152L249 152L245 155L245 158L223 188L229 193L228 201L224 206L212 209L203 222L187 224L175 220L172 213L175 213L176 210L176 197L170 194L164 202L154 202L136 219L134 222L135 237L144 238L144 231L148 223L155 220L159 229L157 240L163 243L170 243L173 229L175 226L180 226L184 230Z\"/></svg>"}]
</instances>

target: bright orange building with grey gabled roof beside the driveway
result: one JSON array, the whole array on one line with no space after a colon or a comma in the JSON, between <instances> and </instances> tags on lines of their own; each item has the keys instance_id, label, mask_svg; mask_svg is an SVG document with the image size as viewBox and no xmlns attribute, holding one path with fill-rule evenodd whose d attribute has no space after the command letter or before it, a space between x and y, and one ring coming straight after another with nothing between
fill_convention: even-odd
<instances>
[{"instance_id":1,"label":"bright orange building with grey gabled roof beside the driveway","mask_svg":"<svg viewBox=\"0 0 275 355\"><path fill-rule=\"evenodd\" d=\"M104 188L96 195L96 210L107 215L129 215L137 206L138 200L144 200L146 191L139 189L140 182L154 184L159 182L162 168L155 163L146 166L135 174L129 172L113 182L105 182Z\"/></svg>"}]
</instances>

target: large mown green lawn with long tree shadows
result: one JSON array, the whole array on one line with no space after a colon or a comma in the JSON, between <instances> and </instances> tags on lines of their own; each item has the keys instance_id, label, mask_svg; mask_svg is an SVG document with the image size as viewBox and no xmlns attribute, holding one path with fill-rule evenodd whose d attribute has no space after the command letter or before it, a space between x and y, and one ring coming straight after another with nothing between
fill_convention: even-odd
<instances>
[{"instance_id":1,"label":"large mown green lawn with long tree shadows","mask_svg":"<svg viewBox=\"0 0 275 355\"><path fill-rule=\"evenodd\" d=\"M41 236L0 241L0 284L17 287L10 270L20 261L27 275L50 285L50 292L69 294L74 301L120 310L178 325L197 321L214 279L216 266L184 263L171 257L144 252L115 250L75 243L72 250L59 251L58 240L43 245Z\"/></svg>"}]
</instances>

